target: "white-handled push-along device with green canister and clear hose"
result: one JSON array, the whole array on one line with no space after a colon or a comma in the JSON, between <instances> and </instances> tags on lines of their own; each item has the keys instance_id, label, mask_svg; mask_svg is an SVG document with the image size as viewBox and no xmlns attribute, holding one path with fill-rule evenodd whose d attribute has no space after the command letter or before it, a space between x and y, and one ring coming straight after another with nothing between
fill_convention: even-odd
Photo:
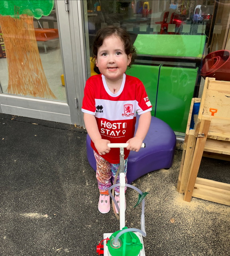
<instances>
[{"instance_id":1,"label":"white-handled push-along device with green canister and clear hose","mask_svg":"<svg viewBox=\"0 0 230 256\"><path fill-rule=\"evenodd\" d=\"M146 236L144 207L145 196L148 193L142 193L135 186L125 183L124 148L128 146L128 143L109 143L108 146L110 148L120 148L120 183L114 184L109 188L109 194L119 211L119 206L111 190L120 186L120 230L114 233L104 233L104 239L96 246L96 252L98 255L102 254L104 256L145 256L142 236ZM145 148L145 143L142 144L142 148ZM141 230L125 226L125 186L133 188L139 193L136 206L142 202Z\"/></svg>"}]
</instances>

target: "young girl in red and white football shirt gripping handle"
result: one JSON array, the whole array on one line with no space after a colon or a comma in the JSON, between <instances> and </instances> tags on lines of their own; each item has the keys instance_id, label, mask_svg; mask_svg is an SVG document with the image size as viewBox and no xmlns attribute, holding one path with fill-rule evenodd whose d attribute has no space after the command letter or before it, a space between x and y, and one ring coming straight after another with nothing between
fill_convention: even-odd
<instances>
[{"instance_id":1,"label":"young girl in red and white football shirt gripping handle","mask_svg":"<svg viewBox=\"0 0 230 256\"><path fill-rule=\"evenodd\" d=\"M110 178L114 181L120 162L120 149L110 149L108 143L128 143L124 150L126 174L128 154L130 150L140 150L151 121L151 103L144 85L138 78L125 74L135 52L126 30L114 26L98 30L93 59L94 70L98 68L100 74L86 81L82 111L96 158L101 213L110 210ZM134 136L136 112L140 119ZM115 200L120 206L119 187L115 188Z\"/></svg>"}]
</instances>

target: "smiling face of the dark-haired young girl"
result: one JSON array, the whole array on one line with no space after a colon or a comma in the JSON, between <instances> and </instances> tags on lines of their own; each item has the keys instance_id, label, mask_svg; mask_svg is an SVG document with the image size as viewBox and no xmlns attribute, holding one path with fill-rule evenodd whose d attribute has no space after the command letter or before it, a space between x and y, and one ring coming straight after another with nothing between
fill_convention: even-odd
<instances>
[{"instance_id":1,"label":"smiling face of the dark-haired young girl","mask_svg":"<svg viewBox=\"0 0 230 256\"><path fill-rule=\"evenodd\" d=\"M131 58L132 54L126 54L124 43L119 37L108 36L98 48L96 66L107 80L116 82L123 77Z\"/></svg>"}]
</instances>

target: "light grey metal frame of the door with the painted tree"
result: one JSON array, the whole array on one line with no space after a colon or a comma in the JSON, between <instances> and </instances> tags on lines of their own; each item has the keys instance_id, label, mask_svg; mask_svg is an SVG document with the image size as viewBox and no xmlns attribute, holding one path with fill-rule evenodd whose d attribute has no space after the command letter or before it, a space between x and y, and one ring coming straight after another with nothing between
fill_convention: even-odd
<instances>
[{"instance_id":1,"label":"light grey metal frame of the door with the painted tree","mask_svg":"<svg viewBox=\"0 0 230 256\"><path fill-rule=\"evenodd\" d=\"M86 68L81 2L55 1L67 102L3 94L0 91L0 112L83 126L81 102Z\"/></svg>"}]
</instances>

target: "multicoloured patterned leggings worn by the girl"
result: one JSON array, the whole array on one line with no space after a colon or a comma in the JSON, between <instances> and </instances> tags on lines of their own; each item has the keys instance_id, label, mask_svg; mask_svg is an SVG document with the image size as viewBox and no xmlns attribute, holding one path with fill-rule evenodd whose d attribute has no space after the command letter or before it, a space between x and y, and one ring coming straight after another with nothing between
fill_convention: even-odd
<instances>
[{"instance_id":1,"label":"multicoloured patterned leggings worn by the girl","mask_svg":"<svg viewBox=\"0 0 230 256\"><path fill-rule=\"evenodd\" d=\"M112 182L114 183L114 178L116 176L116 172L120 164L110 164L110 162L108 162L107 160L99 156L95 151L94 151L94 156L96 159L96 179L98 182L99 192L100 194L108 194L108 188L112 185L111 177L112 177ZM125 178L126 178L126 172L127 172L127 161L128 161L128 158L125 160L125 164L124 164ZM119 174L116 179L116 184L117 183L120 183ZM126 178L126 183L127 183L127 178ZM125 187L125 191L126 191L126 187ZM119 194L120 188L116 187L115 192Z\"/></svg>"}]
</instances>

